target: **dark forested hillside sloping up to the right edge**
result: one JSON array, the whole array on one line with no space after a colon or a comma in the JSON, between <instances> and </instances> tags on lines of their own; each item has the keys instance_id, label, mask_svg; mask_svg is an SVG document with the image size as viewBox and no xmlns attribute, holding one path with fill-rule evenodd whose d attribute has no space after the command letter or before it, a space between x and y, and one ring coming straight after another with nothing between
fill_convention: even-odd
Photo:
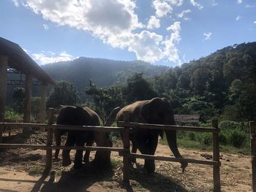
<instances>
[{"instance_id":1,"label":"dark forested hillside sloping up to the right edge","mask_svg":"<svg viewBox=\"0 0 256 192\"><path fill-rule=\"evenodd\" d=\"M172 101L176 113L233 120L256 118L256 42L222 50L169 69L154 89Z\"/></svg>"}]
</instances>

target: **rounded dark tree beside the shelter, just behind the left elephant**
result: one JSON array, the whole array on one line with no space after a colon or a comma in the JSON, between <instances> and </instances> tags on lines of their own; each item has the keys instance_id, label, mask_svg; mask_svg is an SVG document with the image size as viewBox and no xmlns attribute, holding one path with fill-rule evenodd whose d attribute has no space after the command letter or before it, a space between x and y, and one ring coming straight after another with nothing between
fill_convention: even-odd
<instances>
[{"instance_id":1,"label":"rounded dark tree beside the shelter, just behind the left elephant","mask_svg":"<svg viewBox=\"0 0 256 192\"><path fill-rule=\"evenodd\" d=\"M50 92L47 107L59 107L59 105L76 105L80 101L75 86L66 81L60 81Z\"/></svg>"}]
</instances>

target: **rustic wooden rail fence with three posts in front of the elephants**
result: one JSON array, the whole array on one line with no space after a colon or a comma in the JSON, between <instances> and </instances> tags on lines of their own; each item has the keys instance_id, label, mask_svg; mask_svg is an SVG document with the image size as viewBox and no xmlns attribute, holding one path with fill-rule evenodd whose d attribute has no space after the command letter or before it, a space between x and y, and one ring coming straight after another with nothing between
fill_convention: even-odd
<instances>
[{"instance_id":1,"label":"rustic wooden rail fence with three posts in front of the elephants","mask_svg":"<svg viewBox=\"0 0 256 192\"><path fill-rule=\"evenodd\" d=\"M49 110L48 113L48 124L45 123L0 123L0 128L12 128L13 126L20 128L47 128L47 144L46 145L26 145L26 144L0 144L0 148L34 148L46 150L46 170L50 170L52 166L52 153L53 149L62 150L105 150L105 151L116 151L119 155L123 156L123 179L125 182L129 181L129 158L144 158L144 159L154 159L159 161L173 161L173 162L186 162L191 164L204 164L213 166L213 178L214 178L214 191L220 191L220 174L219 166L219 128L218 121L213 120L211 128L204 127L194 127L194 126L167 126L167 125L154 125L147 123L133 123L129 122L129 112L124 112L124 121L118 122L120 127L109 127L109 126L63 126L53 124L53 109ZM69 129L75 131L120 131L124 135L123 147L89 147L89 146L54 146L53 145L53 129ZM156 155L145 155L131 153L129 149L129 133L132 128L152 128L152 129L162 129L162 130L179 130L179 131L203 131L211 132L213 134L213 161L208 160L198 160L193 158L173 158L165 156Z\"/></svg>"}]
</instances>

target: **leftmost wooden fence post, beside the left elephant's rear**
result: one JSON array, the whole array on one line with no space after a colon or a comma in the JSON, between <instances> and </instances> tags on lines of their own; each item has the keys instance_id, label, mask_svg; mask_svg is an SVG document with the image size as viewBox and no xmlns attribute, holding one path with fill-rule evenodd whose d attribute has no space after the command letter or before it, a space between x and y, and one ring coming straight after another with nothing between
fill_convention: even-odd
<instances>
[{"instance_id":1,"label":"leftmost wooden fence post, beside the left elephant's rear","mask_svg":"<svg viewBox=\"0 0 256 192\"><path fill-rule=\"evenodd\" d=\"M53 124L53 118L54 118L54 109L50 108L48 110L48 125ZM53 145L53 129L48 128L47 129L47 146ZM49 148L46 150L46 167L45 169L50 170L52 166L53 161L53 149Z\"/></svg>"}]
</instances>

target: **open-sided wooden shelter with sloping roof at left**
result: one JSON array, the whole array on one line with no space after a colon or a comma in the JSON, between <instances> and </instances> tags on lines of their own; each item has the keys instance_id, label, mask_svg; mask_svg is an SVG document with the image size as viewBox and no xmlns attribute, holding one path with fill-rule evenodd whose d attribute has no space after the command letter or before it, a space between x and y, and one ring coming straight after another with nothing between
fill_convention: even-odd
<instances>
[{"instance_id":1,"label":"open-sided wooden shelter with sloping roof at left","mask_svg":"<svg viewBox=\"0 0 256 192\"><path fill-rule=\"evenodd\" d=\"M7 80L7 73L25 74L26 78L20 76L19 80ZM25 85L23 122L30 123L33 84L41 86L40 123L45 123L46 89L47 85L54 85L55 82L18 44L0 37L0 122L4 121L7 85ZM1 141L2 132L0 130Z\"/></svg>"}]
</instances>

